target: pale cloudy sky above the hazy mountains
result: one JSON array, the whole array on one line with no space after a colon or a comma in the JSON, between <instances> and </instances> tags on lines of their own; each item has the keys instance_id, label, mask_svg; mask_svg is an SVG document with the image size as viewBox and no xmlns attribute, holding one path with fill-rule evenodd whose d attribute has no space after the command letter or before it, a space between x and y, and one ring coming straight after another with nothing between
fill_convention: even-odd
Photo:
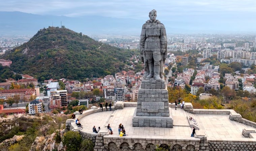
<instances>
[{"instance_id":1,"label":"pale cloudy sky above the hazy mountains","mask_svg":"<svg viewBox=\"0 0 256 151\"><path fill-rule=\"evenodd\" d=\"M203 25L209 30L256 31L256 0L8 0L0 5L0 11L143 20L152 9L160 21L192 29Z\"/></svg>"}]
</instances>

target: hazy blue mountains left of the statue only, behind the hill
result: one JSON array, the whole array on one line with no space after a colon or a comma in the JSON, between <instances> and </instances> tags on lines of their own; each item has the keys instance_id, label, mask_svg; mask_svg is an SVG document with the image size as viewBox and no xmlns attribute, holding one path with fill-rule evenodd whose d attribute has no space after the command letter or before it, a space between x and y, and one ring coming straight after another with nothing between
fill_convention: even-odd
<instances>
[{"instance_id":1,"label":"hazy blue mountains left of the statue only, behind the hill","mask_svg":"<svg viewBox=\"0 0 256 151\"><path fill-rule=\"evenodd\" d=\"M120 19L102 16L66 16L35 15L23 12L1 12L0 34L34 35L39 29L49 26L65 26L83 34L140 34L143 20Z\"/></svg>"}]
</instances>

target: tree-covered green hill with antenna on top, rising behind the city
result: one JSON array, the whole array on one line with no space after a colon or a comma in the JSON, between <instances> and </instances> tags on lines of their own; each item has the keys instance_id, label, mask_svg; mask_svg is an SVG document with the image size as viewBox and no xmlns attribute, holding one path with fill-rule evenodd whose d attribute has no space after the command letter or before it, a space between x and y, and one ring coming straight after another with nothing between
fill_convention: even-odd
<instances>
[{"instance_id":1,"label":"tree-covered green hill with antenna on top, rising behind the city","mask_svg":"<svg viewBox=\"0 0 256 151\"><path fill-rule=\"evenodd\" d=\"M12 60L11 70L33 75L39 81L78 80L119 72L134 53L66 28L49 27L39 30L27 43L1 58Z\"/></svg>"}]
</instances>

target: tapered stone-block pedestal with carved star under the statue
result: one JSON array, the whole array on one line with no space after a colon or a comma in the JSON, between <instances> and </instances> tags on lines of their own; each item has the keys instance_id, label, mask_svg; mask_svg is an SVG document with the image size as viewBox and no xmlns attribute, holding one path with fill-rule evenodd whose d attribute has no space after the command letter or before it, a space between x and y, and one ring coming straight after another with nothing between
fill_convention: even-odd
<instances>
[{"instance_id":1,"label":"tapered stone-block pedestal with carved star under the statue","mask_svg":"<svg viewBox=\"0 0 256 151\"><path fill-rule=\"evenodd\" d=\"M143 80L132 119L133 127L172 128L173 119L170 113L165 82Z\"/></svg>"}]
</instances>

